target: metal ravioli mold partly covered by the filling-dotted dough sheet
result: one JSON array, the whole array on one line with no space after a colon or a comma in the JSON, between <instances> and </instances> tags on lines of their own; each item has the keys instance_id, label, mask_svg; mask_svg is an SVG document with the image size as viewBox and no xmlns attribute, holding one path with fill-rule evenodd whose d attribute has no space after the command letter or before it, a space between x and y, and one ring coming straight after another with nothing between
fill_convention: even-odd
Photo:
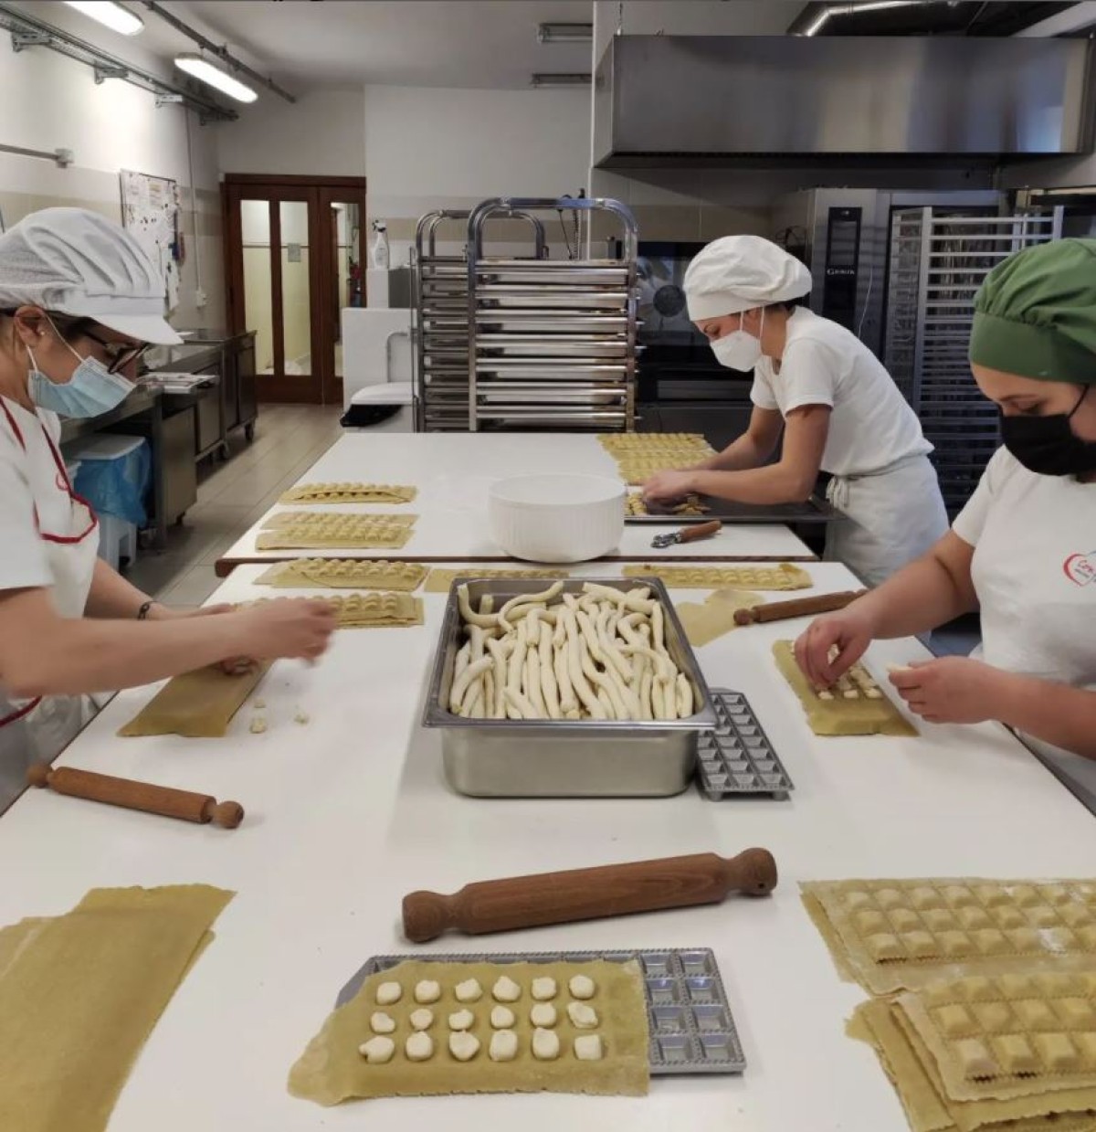
<instances>
[{"instance_id":1,"label":"metal ravioli mold partly covered by the filling-dotted dough sheet","mask_svg":"<svg viewBox=\"0 0 1096 1132\"><path fill-rule=\"evenodd\" d=\"M716 957L709 947L640 951L530 951L489 954L373 955L343 987L344 1006L371 975L414 960L435 963L611 963L636 960L644 974L653 1077L676 1073L741 1073L745 1055L734 1028Z\"/></svg>"}]
</instances>

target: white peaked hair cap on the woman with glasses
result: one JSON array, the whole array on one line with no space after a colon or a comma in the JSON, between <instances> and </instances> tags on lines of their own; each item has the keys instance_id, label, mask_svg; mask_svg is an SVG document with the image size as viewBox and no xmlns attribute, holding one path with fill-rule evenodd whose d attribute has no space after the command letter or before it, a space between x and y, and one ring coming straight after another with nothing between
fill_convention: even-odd
<instances>
[{"instance_id":1,"label":"white peaked hair cap on the woman with glasses","mask_svg":"<svg viewBox=\"0 0 1096 1132\"><path fill-rule=\"evenodd\" d=\"M24 305L141 342L182 341L164 319L163 276L123 228L84 208L43 208L0 235L0 308Z\"/></svg>"}]
</instances>

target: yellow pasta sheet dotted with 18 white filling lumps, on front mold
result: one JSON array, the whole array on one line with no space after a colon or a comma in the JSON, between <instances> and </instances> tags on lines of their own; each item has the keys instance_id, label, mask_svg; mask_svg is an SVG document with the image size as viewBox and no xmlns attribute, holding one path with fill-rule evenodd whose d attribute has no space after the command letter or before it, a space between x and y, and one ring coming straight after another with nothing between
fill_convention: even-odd
<instances>
[{"instance_id":1,"label":"yellow pasta sheet dotted with 18 white filling lumps, on front mold","mask_svg":"<svg viewBox=\"0 0 1096 1132\"><path fill-rule=\"evenodd\" d=\"M572 975L588 975L597 986L589 1005L597 1010L597 1032L605 1044L605 1057L598 1062L577 1061L569 1053L570 1043L579 1034L567 1017L570 1002L568 981ZM515 1061L493 1062L487 1047L493 1032L490 1023L491 987L507 975L521 985L523 995L516 1003L504 1003L517 1015L514 1027L520 1050ZM549 976L559 985L553 1004L560 1014L555 1027L563 1047L558 1061L536 1061L529 1053L532 1026L529 984L534 977ZM476 1003L459 1003L454 996L458 981L475 978L483 987ZM403 1044L411 1032L408 1015L416 1010L413 990L420 979L434 979L442 985L442 997L432 1003L434 1055L425 1062L409 1062L403 1056ZM395 1005L378 1006L377 987L381 983L399 983L403 997ZM480 1039L480 1053L469 1062L457 1062L448 1049L448 1015L460 1009L475 1014L471 1031ZM370 1015L382 1010L397 1024L391 1035L397 1054L385 1065L370 1065L357 1052L372 1037ZM641 1096L647 1092L649 1063L647 1056L647 1005L642 979L636 963L448 963L405 962L370 976L355 997L339 1006L312 1038L308 1048L290 1071L288 1088L295 1097L321 1105L337 1105L354 1097L438 1096L459 1092L589 1092ZM567 1055L564 1055L564 1053Z\"/></svg>"}]
</instances>

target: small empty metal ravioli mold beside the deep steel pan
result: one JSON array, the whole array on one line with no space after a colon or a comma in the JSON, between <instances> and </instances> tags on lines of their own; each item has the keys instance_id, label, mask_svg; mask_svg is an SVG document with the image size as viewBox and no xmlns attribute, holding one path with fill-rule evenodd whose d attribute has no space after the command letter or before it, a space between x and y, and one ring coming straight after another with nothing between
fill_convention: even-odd
<instances>
[{"instance_id":1,"label":"small empty metal ravioli mold beside the deep steel pan","mask_svg":"<svg viewBox=\"0 0 1096 1132\"><path fill-rule=\"evenodd\" d=\"M710 691L716 728L697 736L697 788L713 801L736 794L787 798L792 779L750 702L741 692Z\"/></svg>"}]
</instances>

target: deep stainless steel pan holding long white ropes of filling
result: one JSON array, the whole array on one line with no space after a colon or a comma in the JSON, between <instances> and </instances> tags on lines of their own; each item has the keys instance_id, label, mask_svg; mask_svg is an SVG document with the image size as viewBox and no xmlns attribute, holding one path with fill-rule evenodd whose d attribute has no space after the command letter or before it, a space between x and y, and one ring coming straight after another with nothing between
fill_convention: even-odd
<instances>
[{"instance_id":1,"label":"deep stainless steel pan holding long white ropes of filling","mask_svg":"<svg viewBox=\"0 0 1096 1132\"><path fill-rule=\"evenodd\" d=\"M530 410L536 412L536 410ZM461 618L457 584L449 591L434 655L423 727L441 731L449 784L478 798L665 797L681 794L697 765L697 734L716 726L711 696L696 654L658 578L568 578L563 592L581 593L587 581L618 590L649 586L665 610L666 649L692 684L697 711L683 720L464 719L448 710ZM552 580L469 581L473 607L484 594L495 609L510 598L538 593Z\"/></svg>"}]
</instances>

